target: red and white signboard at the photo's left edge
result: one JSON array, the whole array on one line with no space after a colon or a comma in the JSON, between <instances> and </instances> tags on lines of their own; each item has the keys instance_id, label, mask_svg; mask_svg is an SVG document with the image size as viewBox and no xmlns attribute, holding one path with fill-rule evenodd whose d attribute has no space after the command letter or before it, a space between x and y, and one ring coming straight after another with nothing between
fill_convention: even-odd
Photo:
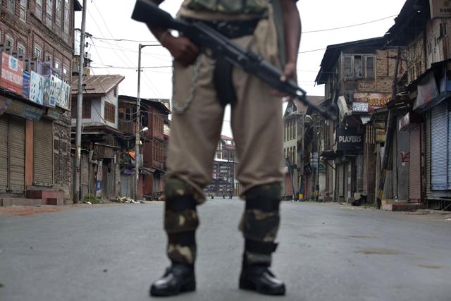
<instances>
[{"instance_id":1,"label":"red and white signboard at the photo's left edge","mask_svg":"<svg viewBox=\"0 0 451 301\"><path fill-rule=\"evenodd\" d=\"M1 77L0 87L4 87L22 95L23 61L10 56L6 52L1 53Z\"/></svg>"}]
</instances>

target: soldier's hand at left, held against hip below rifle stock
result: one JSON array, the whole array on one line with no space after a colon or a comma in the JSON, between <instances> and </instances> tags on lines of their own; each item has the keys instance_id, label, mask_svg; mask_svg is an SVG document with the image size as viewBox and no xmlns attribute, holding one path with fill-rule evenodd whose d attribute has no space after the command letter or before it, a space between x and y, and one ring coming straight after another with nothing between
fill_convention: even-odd
<instances>
[{"instance_id":1,"label":"soldier's hand at left, held against hip below rifle stock","mask_svg":"<svg viewBox=\"0 0 451 301\"><path fill-rule=\"evenodd\" d=\"M190 39L186 37L173 37L169 35L163 42L164 44L162 46L168 49L175 61L178 61L183 66L190 66L196 61L199 55L197 46L192 44Z\"/></svg>"}]
</instances>

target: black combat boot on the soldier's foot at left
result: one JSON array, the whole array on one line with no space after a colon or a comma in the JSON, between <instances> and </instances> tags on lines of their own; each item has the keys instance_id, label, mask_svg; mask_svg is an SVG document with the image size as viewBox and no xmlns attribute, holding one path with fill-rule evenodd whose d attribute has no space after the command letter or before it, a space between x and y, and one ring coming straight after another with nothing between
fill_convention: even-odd
<instances>
[{"instance_id":1,"label":"black combat boot on the soldier's foot at left","mask_svg":"<svg viewBox=\"0 0 451 301\"><path fill-rule=\"evenodd\" d=\"M194 266L173 263L166 269L163 277L152 283L150 295L172 296L196 290Z\"/></svg>"}]
</instances>

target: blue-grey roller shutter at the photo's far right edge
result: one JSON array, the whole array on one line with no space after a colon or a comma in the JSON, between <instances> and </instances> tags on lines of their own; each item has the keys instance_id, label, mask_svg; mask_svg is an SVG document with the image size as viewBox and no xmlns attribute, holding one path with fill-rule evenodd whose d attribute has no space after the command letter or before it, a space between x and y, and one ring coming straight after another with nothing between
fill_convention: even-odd
<instances>
[{"instance_id":1,"label":"blue-grey roller shutter at the photo's far right edge","mask_svg":"<svg viewBox=\"0 0 451 301\"><path fill-rule=\"evenodd\" d=\"M431 189L447 190L447 104L431 111Z\"/></svg>"}]
</instances>

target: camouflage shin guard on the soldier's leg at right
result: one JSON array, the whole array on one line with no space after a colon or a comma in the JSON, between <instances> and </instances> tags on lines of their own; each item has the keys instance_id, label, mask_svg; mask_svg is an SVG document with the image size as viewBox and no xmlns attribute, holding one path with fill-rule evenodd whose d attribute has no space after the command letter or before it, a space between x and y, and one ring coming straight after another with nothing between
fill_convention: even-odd
<instances>
[{"instance_id":1,"label":"camouflage shin guard on the soldier's leg at right","mask_svg":"<svg viewBox=\"0 0 451 301\"><path fill-rule=\"evenodd\" d=\"M245 195L246 209L240 231L245 237L247 264L271 264L280 224L280 192L280 184L273 183L252 188Z\"/></svg>"}]
</instances>

